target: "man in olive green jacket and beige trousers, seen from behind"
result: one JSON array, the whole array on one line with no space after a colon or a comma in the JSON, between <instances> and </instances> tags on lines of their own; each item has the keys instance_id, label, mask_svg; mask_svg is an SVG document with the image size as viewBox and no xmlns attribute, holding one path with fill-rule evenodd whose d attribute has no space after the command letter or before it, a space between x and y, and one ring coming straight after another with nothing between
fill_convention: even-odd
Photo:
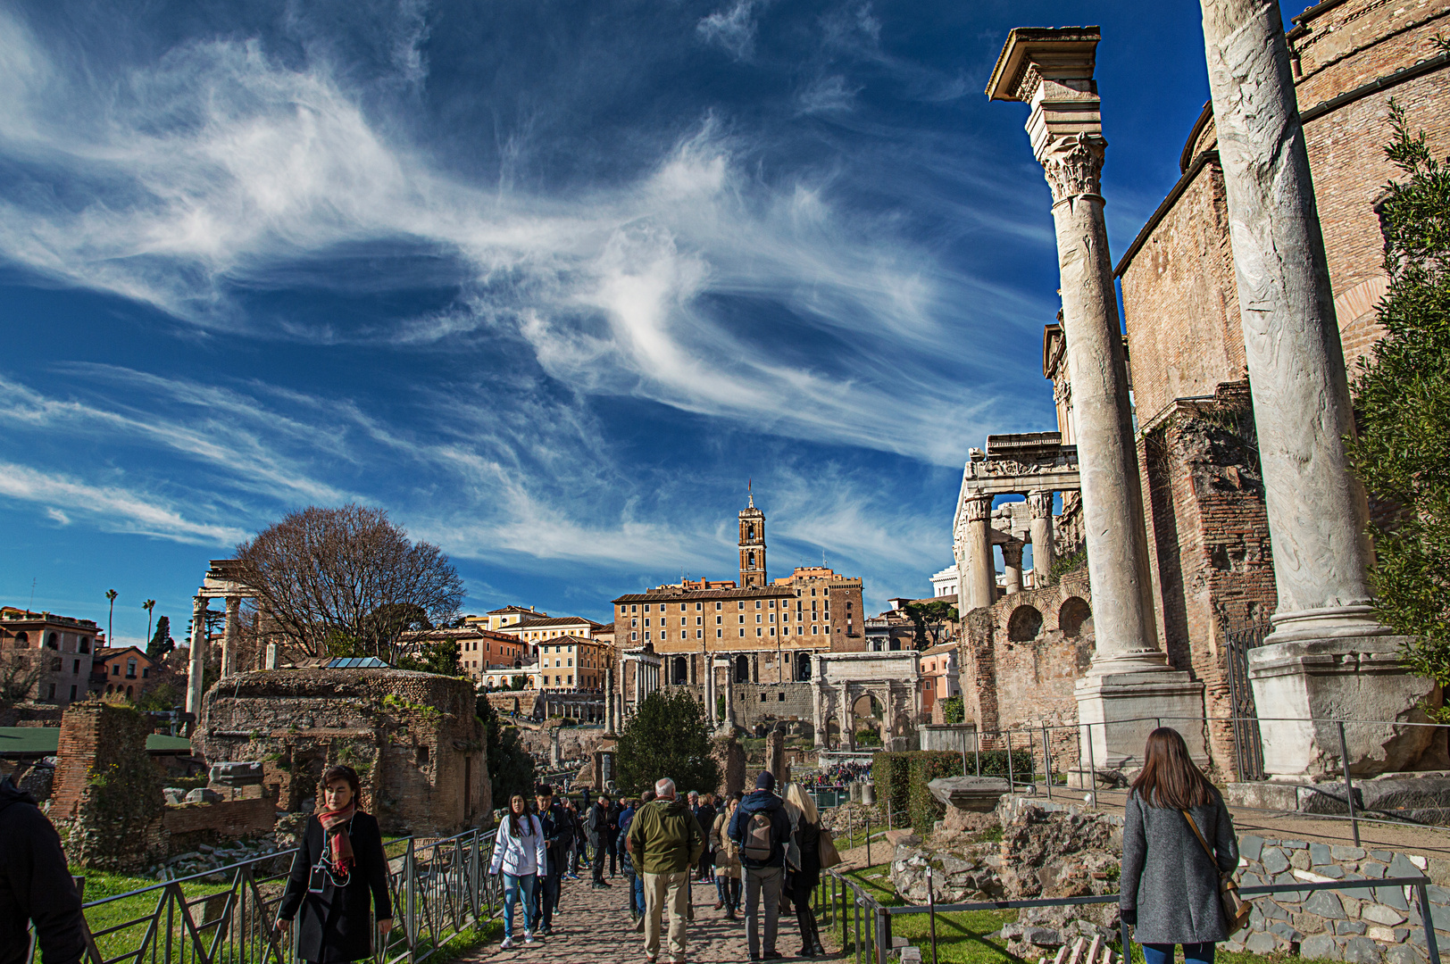
<instances>
[{"instance_id":1,"label":"man in olive green jacket and beige trousers, seen from behind","mask_svg":"<svg viewBox=\"0 0 1450 964\"><path fill-rule=\"evenodd\" d=\"M690 906L690 868L705 852L705 838L690 807L676 799L674 780L654 784L655 799L629 822L625 847L644 874L644 955L660 960L660 919L670 907L670 960L684 964L684 922Z\"/></svg>"}]
</instances>

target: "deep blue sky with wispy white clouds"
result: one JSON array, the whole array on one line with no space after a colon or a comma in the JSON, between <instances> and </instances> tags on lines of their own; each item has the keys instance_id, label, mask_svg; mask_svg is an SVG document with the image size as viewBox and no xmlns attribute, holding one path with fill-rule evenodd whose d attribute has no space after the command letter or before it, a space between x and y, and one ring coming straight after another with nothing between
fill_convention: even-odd
<instances>
[{"instance_id":1,"label":"deep blue sky with wispy white clouds","mask_svg":"<svg viewBox=\"0 0 1450 964\"><path fill-rule=\"evenodd\" d=\"M961 461L1054 428L1012 26L1101 23L1121 254L1208 96L1198 4L0 4L0 600L141 639L358 500L470 612L950 560ZM1295 13L1286 10L1286 13Z\"/></svg>"}]
</instances>

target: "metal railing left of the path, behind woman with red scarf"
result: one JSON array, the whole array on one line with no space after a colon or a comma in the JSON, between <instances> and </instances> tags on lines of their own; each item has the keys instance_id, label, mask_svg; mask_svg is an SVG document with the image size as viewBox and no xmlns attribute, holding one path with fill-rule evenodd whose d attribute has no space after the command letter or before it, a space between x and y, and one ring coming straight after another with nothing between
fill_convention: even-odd
<instances>
[{"instance_id":1,"label":"metal railing left of the path, behind woman with red scarf","mask_svg":"<svg viewBox=\"0 0 1450 964\"><path fill-rule=\"evenodd\" d=\"M502 913L502 884L489 876L494 831L419 842L389 841L393 931L374 931L374 961L416 964L464 931ZM87 964L291 964L296 923L273 936L277 906L297 851L83 905ZM35 958L32 934L28 964Z\"/></svg>"}]
</instances>

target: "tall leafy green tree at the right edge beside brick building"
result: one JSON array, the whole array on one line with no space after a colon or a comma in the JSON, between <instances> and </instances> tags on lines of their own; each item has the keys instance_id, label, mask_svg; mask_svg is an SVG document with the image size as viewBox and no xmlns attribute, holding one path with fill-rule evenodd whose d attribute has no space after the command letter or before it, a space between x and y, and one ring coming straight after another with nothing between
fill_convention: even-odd
<instances>
[{"instance_id":1,"label":"tall leafy green tree at the right edge beside brick building","mask_svg":"<svg viewBox=\"0 0 1450 964\"><path fill-rule=\"evenodd\" d=\"M1364 487L1398 507L1375 528L1379 618L1409 636L1406 668L1450 686L1450 170L1393 101L1391 123L1385 152L1408 177L1380 204L1388 333L1354 378L1350 454Z\"/></svg>"}]
</instances>

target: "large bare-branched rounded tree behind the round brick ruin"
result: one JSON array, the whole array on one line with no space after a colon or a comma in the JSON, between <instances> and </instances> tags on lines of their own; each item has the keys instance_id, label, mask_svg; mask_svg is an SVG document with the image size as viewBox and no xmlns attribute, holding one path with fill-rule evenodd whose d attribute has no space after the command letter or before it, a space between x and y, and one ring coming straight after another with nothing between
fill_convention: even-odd
<instances>
[{"instance_id":1,"label":"large bare-branched rounded tree behind the round brick ruin","mask_svg":"<svg viewBox=\"0 0 1450 964\"><path fill-rule=\"evenodd\" d=\"M294 512L236 547L236 561L258 607L316 655L392 658L400 633L447 622L463 604L463 580L442 549L352 503Z\"/></svg>"}]
</instances>

